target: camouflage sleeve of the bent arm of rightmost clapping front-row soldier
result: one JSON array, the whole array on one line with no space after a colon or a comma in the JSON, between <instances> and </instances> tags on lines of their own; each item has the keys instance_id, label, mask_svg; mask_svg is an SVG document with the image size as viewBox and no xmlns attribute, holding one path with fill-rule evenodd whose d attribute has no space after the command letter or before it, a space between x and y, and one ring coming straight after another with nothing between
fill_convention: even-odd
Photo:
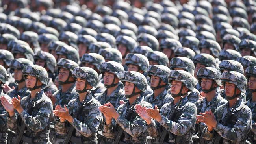
<instances>
[{"instance_id":1,"label":"camouflage sleeve of the bent arm of rightmost clapping front-row soldier","mask_svg":"<svg viewBox=\"0 0 256 144\"><path fill-rule=\"evenodd\" d=\"M246 138L248 129L250 129L252 113L250 109L245 109L245 111L240 112L237 122L234 127L224 126L221 123L217 123L214 130L221 135L221 137L230 140L234 143L240 142Z\"/></svg>"}]
</instances>

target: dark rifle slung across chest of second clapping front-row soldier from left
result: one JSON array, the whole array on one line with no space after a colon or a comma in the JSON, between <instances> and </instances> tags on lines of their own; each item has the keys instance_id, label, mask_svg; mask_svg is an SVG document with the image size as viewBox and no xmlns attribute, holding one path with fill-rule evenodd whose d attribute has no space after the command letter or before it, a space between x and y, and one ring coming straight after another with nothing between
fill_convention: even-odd
<instances>
[{"instance_id":1,"label":"dark rifle slung across chest of second clapping front-row soldier from left","mask_svg":"<svg viewBox=\"0 0 256 144\"><path fill-rule=\"evenodd\" d=\"M89 93L87 92L87 95ZM87 96L86 96L87 97ZM80 105L78 106L78 108L76 109L76 113L74 114L74 118L78 118L78 114L81 113L81 111L83 110L83 107L85 106L85 100L83 100L82 103L80 103ZM73 116L73 114L71 114ZM76 144L82 144L82 138L81 137L74 137L73 134L75 132L75 128L70 125L69 129L68 129L68 133L67 133L67 137L65 138L64 144L69 144L70 141L76 143Z\"/></svg>"}]
</instances>

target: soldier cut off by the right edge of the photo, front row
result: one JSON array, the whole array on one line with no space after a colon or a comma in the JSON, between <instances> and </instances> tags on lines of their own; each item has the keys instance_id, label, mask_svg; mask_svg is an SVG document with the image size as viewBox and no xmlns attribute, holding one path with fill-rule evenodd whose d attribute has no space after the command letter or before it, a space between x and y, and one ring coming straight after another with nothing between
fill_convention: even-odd
<instances>
[{"instance_id":1,"label":"soldier cut off by the right edge of the photo, front row","mask_svg":"<svg viewBox=\"0 0 256 144\"><path fill-rule=\"evenodd\" d=\"M250 91L250 99L245 102L245 105L250 107L250 110L252 111L252 130L247 135L250 139L250 142L252 144L255 144L256 142L256 67L255 66L249 66L245 70L245 76L247 77L248 81L248 87Z\"/></svg>"}]
</instances>

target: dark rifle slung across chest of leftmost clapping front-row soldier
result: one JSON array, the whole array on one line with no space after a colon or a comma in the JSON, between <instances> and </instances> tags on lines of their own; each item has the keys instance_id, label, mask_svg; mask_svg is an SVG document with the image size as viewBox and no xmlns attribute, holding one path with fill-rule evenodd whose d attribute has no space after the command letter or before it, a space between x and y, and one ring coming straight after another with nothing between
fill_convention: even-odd
<instances>
[{"instance_id":1,"label":"dark rifle slung across chest of leftmost clapping front-row soldier","mask_svg":"<svg viewBox=\"0 0 256 144\"><path fill-rule=\"evenodd\" d=\"M39 94L39 92L36 92L34 100L32 100L32 102L28 105L27 112L30 115L32 114L33 109L35 107L35 99L37 98L38 94ZM20 125L20 128L19 128L19 133L18 133L17 140L15 141L15 144L22 144L23 141L26 141L26 142L28 141L28 142L32 143L32 138L26 137L26 136L23 135L24 131L26 130L26 124L23 122L22 118L19 118L18 125L19 124L21 124L21 125Z\"/></svg>"}]
</instances>

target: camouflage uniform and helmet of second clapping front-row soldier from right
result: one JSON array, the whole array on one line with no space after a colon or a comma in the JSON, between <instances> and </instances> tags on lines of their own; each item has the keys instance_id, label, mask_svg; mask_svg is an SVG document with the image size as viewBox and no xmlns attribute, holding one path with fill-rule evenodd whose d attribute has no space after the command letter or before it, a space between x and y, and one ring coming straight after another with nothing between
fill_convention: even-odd
<instances>
[{"instance_id":1,"label":"camouflage uniform and helmet of second clapping front-row soldier from right","mask_svg":"<svg viewBox=\"0 0 256 144\"><path fill-rule=\"evenodd\" d=\"M173 80L182 81L182 84L187 87L189 91L193 90L192 76L184 70L171 70L168 78L169 83ZM181 95L182 94L177 94L177 96ZM178 103L180 103L180 109L177 115L174 120L169 120L169 114L173 111L174 107L178 105ZM157 129L154 128L152 124L148 125L150 136L157 137L156 143L161 136L159 132L162 126L174 135L174 138L171 139L168 137L165 142L169 142L171 144L189 144L192 142L192 134L196 123L197 107L193 103L189 102L186 96L181 98L178 103L174 105L172 101L163 105L160 109L161 121L156 122Z\"/></svg>"}]
</instances>

